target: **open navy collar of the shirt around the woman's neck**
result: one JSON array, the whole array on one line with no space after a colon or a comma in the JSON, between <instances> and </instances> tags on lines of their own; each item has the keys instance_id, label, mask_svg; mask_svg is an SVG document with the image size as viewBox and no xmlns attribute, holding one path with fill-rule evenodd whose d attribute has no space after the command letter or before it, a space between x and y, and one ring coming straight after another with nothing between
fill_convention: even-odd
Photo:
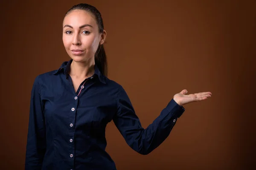
<instances>
[{"instance_id":1,"label":"open navy collar of the shirt around the woman's neck","mask_svg":"<svg viewBox=\"0 0 256 170\"><path fill-rule=\"evenodd\" d=\"M70 71L70 64L72 63L72 61L73 61L73 59L70 59L69 61L63 62L63 63L61 64L60 68L54 72L54 75L57 75L57 74L59 74L61 71L64 71L64 74L67 76L67 73ZM98 66L97 66L96 64L94 65L94 74L93 74L93 77L94 77L95 75L98 76L99 80L100 80L102 83L106 84L106 82L105 82L105 77L104 77L104 75L101 74L101 72L99 71L99 68L98 68Z\"/></svg>"}]
</instances>

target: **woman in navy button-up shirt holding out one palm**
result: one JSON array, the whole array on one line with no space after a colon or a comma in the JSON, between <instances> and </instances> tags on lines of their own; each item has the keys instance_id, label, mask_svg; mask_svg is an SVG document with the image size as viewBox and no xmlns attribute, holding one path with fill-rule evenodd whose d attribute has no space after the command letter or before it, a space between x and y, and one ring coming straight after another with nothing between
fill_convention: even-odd
<instances>
[{"instance_id":1,"label":"woman in navy button-up shirt holding out one palm","mask_svg":"<svg viewBox=\"0 0 256 170\"><path fill-rule=\"evenodd\" d=\"M108 122L113 120L127 144L146 155L167 138L185 111L183 105L211 96L183 90L143 129L125 90L107 78L105 38L95 7L78 4L67 11L63 43L71 59L35 79L26 170L115 170L105 151Z\"/></svg>"}]
</instances>

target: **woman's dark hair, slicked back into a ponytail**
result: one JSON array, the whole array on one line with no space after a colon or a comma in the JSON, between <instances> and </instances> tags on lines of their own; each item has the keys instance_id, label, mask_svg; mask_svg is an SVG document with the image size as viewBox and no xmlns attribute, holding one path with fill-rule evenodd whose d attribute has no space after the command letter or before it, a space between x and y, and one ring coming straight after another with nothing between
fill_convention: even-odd
<instances>
[{"instance_id":1,"label":"woman's dark hair, slicked back into a ponytail","mask_svg":"<svg viewBox=\"0 0 256 170\"><path fill-rule=\"evenodd\" d=\"M87 3L79 3L73 7L71 7L65 14L65 16L67 14L69 14L71 11L73 10L84 10L89 12L90 14L93 14L97 25L99 27L99 33L102 33L104 30L104 26L103 26L103 20L102 20L102 16L100 14L100 12L98 11L98 9L96 9L94 6L91 6ZM95 64L97 65L97 67L99 68L99 71L104 75L104 76L108 76L108 62L107 62L107 55L105 53L105 49L103 44L98 46L98 49L95 53Z\"/></svg>"}]
</instances>

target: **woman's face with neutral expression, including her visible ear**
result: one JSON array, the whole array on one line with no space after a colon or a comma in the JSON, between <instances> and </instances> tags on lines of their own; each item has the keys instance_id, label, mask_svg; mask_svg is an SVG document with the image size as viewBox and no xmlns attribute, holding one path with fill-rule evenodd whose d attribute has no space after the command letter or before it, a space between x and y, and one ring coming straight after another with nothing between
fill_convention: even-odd
<instances>
[{"instance_id":1,"label":"woman's face with neutral expression, including her visible ear","mask_svg":"<svg viewBox=\"0 0 256 170\"><path fill-rule=\"evenodd\" d=\"M71 11L63 21L62 40L67 54L76 62L94 61L94 54L105 40L93 15L84 10Z\"/></svg>"}]
</instances>

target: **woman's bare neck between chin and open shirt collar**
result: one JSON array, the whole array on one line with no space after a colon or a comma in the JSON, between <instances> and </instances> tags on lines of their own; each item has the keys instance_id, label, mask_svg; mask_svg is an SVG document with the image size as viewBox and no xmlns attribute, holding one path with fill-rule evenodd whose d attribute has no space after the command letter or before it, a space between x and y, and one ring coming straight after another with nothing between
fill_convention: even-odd
<instances>
[{"instance_id":1,"label":"woman's bare neck between chin and open shirt collar","mask_svg":"<svg viewBox=\"0 0 256 170\"><path fill-rule=\"evenodd\" d=\"M70 76L76 79L86 79L93 76L95 62L75 62L74 60L70 65Z\"/></svg>"}]
</instances>

